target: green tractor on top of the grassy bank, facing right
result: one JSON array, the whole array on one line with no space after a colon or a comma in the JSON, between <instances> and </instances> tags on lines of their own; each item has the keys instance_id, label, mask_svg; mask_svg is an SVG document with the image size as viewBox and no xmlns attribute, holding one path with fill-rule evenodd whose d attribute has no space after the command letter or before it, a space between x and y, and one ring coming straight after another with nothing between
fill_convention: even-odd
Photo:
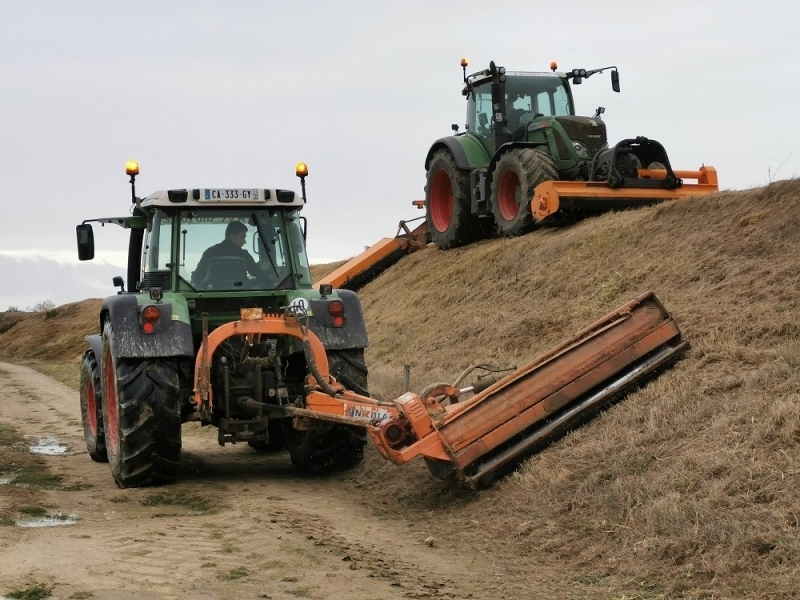
<instances>
[{"instance_id":1,"label":"green tractor on top of the grassy bank, facing right","mask_svg":"<svg viewBox=\"0 0 800 600\"><path fill-rule=\"evenodd\" d=\"M531 200L546 181L601 181L611 188L675 189L681 180L672 171L663 147L639 137L610 148L599 107L593 117L576 116L570 89L584 79L611 70L550 73L512 72L494 62L467 76L466 131L437 140L425 158L426 220L431 239L447 249L486 237L496 228L502 235L520 235L536 224ZM664 170L658 179L639 177L638 169ZM641 203L635 192L616 194L616 202L562 203L547 222L569 222L580 214Z\"/></svg>"}]
</instances>

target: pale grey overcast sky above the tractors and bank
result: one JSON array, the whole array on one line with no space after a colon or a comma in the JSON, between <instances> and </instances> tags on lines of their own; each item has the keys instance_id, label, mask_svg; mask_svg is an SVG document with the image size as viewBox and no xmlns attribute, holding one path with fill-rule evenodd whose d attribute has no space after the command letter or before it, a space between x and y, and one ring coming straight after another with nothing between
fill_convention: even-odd
<instances>
[{"instance_id":1,"label":"pale grey overcast sky above the tractors and bank","mask_svg":"<svg viewBox=\"0 0 800 600\"><path fill-rule=\"evenodd\" d=\"M345 258L421 216L424 157L464 123L459 60L616 65L574 89L610 142L645 135L721 187L800 175L796 1L0 0L0 310L113 292L127 232L75 225L169 188L288 187L309 253ZM61 267L59 267L61 265ZM109 275L110 273L110 275Z\"/></svg>"}]
</instances>

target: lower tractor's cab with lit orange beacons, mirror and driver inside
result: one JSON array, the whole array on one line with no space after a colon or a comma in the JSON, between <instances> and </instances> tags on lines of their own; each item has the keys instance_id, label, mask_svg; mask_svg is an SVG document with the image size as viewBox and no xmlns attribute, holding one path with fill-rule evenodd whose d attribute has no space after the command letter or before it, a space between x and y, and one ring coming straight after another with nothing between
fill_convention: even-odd
<instances>
[{"instance_id":1,"label":"lower tractor's cab with lit orange beacons, mirror and driver inside","mask_svg":"<svg viewBox=\"0 0 800 600\"><path fill-rule=\"evenodd\" d=\"M77 227L78 257L94 257L91 222L130 229L128 286L131 291L162 291L186 297L216 292L269 292L311 288L305 248L303 194L268 188L199 188L136 196L139 165L130 161L133 215L89 219ZM115 285L124 291L124 280ZM152 294L151 294L152 295Z\"/></svg>"}]
</instances>

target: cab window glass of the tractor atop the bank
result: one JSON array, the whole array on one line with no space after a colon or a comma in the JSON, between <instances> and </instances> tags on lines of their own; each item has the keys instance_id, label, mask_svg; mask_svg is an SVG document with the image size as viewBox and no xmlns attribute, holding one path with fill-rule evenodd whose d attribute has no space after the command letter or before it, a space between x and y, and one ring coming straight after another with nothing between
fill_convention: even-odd
<instances>
[{"instance_id":1,"label":"cab window glass of the tractor atop the bank","mask_svg":"<svg viewBox=\"0 0 800 600\"><path fill-rule=\"evenodd\" d=\"M483 137L492 137L492 86L476 86L467 96L467 129ZM572 96L564 80L557 75L509 73L506 76L506 111L512 131L527 125L537 113L543 116L575 114Z\"/></svg>"}]
</instances>

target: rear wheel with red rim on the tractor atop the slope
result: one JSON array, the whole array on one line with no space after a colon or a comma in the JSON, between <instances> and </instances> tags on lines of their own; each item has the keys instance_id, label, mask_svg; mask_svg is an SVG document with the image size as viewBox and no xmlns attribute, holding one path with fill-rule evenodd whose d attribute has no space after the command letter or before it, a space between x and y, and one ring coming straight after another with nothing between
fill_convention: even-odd
<instances>
[{"instance_id":1,"label":"rear wheel with red rim on the tractor atop the slope","mask_svg":"<svg viewBox=\"0 0 800 600\"><path fill-rule=\"evenodd\" d=\"M463 246L484 237L489 219L472 215L469 172L459 169L448 150L439 150L428 166L425 184L425 218L431 239L442 250ZM487 225L484 225L487 223Z\"/></svg>"}]
</instances>

